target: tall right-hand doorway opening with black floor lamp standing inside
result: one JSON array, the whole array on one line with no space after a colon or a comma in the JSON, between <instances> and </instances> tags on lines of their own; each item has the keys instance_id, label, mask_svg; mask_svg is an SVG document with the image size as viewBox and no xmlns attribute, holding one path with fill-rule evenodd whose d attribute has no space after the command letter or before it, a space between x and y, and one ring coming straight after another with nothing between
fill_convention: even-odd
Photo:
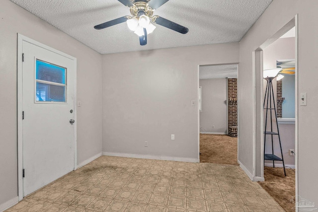
<instances>
[{"instance_id":1,"label":"tall right-hand doorway opening with black floor lamp standing inside","mask_svg":"<svg viewBox=\"0 0 318 212\"><path fill-rule=\"evenodd\" d=\"M297 49L296 16L255 51L254 61L256 125L260 126L256 128L256 176L263 177L259 184L286 212L295 211L291 199L297 197ZM274 101L266 104L269 78L263 79L263 73L274 68L279 69L270 80Z\"/></svg>"}]
</instances>

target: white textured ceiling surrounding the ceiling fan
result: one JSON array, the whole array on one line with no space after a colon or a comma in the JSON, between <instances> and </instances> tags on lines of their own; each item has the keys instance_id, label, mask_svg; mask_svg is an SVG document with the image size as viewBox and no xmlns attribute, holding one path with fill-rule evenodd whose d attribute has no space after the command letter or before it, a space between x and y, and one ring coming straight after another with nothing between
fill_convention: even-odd
<instances>
[{"instance_id":1,"label":"white textured ceiling surrounding the ceiling fan","mask_svg":"<svg viewBox=\"0 0 318 212\"><path fill-rule=\"evenodd\" d=\"M117 0L11 0L100 54L239 41L272 0L169 0L159 15L189 28L185 35L156 24L146 46L126 23L94 25L130 15Z\"/></svg>"}]
</instances>

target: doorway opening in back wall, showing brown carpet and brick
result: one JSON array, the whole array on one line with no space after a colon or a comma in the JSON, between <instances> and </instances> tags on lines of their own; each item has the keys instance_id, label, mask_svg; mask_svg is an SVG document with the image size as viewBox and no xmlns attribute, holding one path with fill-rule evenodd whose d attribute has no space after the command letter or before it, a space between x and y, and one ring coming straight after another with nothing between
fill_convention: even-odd
<instances>
[{"instance_id":1,"label":"doorway opening in back wall, showing brown carpet and brick","mask_svg":"<svg viewBox=\"0 0 318 212\"><path fill-rule=\"evenodd\" d=\"M199 67L200 162L238 164L238 65Z\"/></svg>"}]
</instances>

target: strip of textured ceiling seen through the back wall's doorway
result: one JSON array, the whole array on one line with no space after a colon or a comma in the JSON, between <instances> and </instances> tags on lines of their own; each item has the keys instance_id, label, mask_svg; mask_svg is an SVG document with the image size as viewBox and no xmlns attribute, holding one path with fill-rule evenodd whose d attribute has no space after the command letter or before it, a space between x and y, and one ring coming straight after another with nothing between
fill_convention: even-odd
<instances>
[{"instance_id":1,"label":"strip of textured ceiling seen through the back wall's doorway","mask_svg":"<svg viewBox=\"0 0 318 212\"><path fill-rule=\"evenodd\" d=\"M200 79L237 78L238 65L200 66Z\"/></svg>"}]
</instances>

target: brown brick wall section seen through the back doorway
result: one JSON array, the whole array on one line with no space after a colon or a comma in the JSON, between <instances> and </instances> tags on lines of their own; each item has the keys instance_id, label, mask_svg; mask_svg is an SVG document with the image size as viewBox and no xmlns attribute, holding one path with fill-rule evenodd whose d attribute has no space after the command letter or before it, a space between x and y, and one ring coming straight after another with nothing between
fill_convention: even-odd
<instances>
[{"instance_id":1,"label":"brown brick wall section seen through the back doorway","mask_svg":"<svg viewBox=\"0 0 318 212\"><path fill-rule=\"evenodd\" d=\"M228 79L228 132L238 137L238 79Z\"/></svg>"}]
</instances>

